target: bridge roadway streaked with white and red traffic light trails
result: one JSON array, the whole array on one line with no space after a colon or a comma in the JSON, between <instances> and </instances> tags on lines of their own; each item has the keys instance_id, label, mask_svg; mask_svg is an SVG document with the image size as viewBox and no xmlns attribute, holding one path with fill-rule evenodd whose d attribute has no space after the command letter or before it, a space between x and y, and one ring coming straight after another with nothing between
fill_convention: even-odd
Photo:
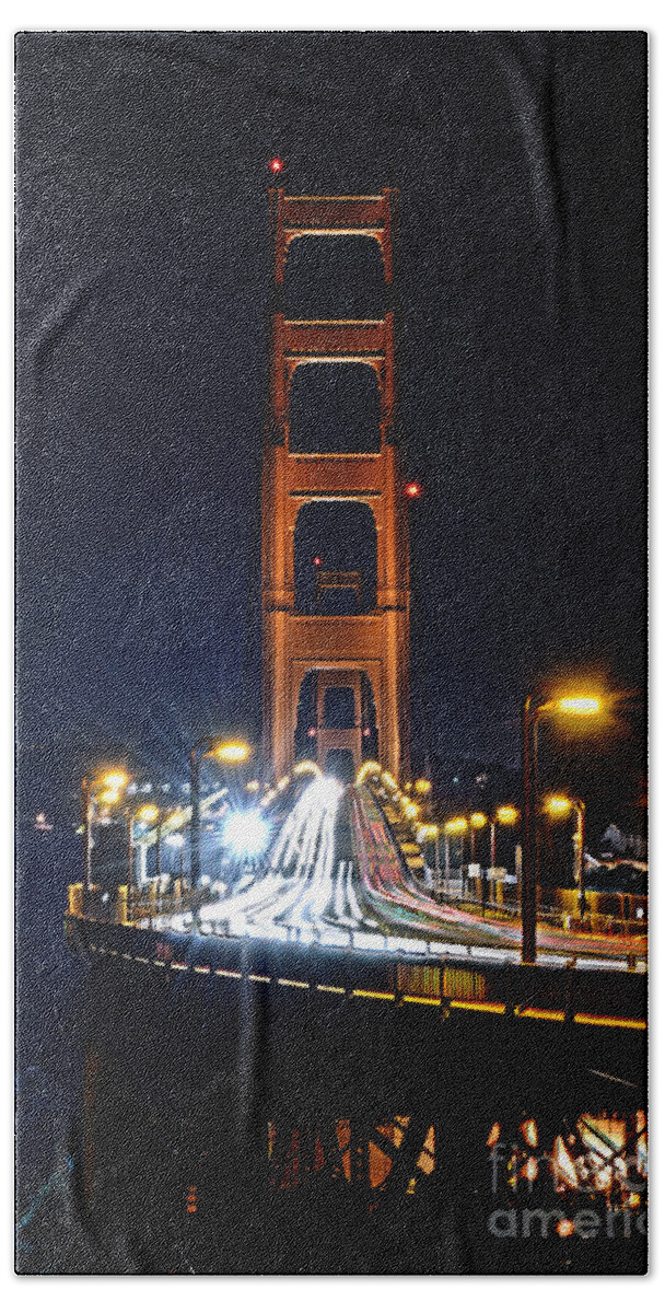
<instances>
[{"instance_id":1,"label":"bridge roadway streaked with white and red traffic light trails","mask_svg":"<svg viewBox=\"0 0 665 1313\"><path fill-rule=\"evenodd\" d=\"M435 957L456 944L488 960L518 964L518 919L497 922L438 903L411 873L366 785L344 789L333 779L317 777L273 825L268 861L226 888L218 885L216 897L199 907L198 927L205 934ZM171 914L153 924L186 931L193 919ZM538 944L544 966L574 960L580 966L626 970L628 956L645 956L643 936L571 935L543 924Z\"/></svg>"}]
</instances>

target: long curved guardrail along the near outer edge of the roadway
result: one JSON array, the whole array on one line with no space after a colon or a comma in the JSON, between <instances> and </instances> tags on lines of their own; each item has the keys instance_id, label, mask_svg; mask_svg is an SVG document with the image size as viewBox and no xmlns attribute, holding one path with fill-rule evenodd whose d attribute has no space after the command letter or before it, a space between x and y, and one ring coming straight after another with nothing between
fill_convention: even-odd
<instances>
[{"instance_id":1,"label":"long curved guardrail along the near outer edge of the roadway","mask_svg":"<svg viewBox=\"0 0 665 1313\"><path fill-rule=\"evenodd\" d=\"M601 964L515 966L471 949L464 961L438 945L435 960L424 960L404 944L397 955L317 943L277 943L270 939L191 935L185 930L134 924L102 924L68 915L72 947L89 961L119 970L138 970L150 979L190 978L219 990L274 987L303 999L352 1002L354 1006L411 1007L421 1015L438 1010L441 1019L484 1016L510 1022L568 1023L576 1027L645 1028L647 976L622 970L607 987ZM459 945L450 945L451 949ZM581 965L581 964L580 964ZM220 1002L230 995L220 995Z\"/></svg>"}]
</instances>

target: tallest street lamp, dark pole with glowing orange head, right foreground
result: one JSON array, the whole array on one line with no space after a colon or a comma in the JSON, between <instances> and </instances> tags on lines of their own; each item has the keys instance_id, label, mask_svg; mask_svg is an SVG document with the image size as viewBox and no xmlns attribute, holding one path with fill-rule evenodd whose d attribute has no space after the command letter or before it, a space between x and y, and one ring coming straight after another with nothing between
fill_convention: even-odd
<instances>
[{"instance_id":1,"label":"tallest street lamp, dark pole with glowing orange head, right foreground","mask_svg":"<svg viewBox=\"0 0 665 1313\"><path fill-rule=\"evenodd\" d=\"M535 964L536 919L536 798L538 798L538 722L542 716L593 717L602 710L599 697L573 693L548 699L530 693L523 706L523 773L525 773L525 855L522 868L522 965Z\"/></svg>"}]
</instances>

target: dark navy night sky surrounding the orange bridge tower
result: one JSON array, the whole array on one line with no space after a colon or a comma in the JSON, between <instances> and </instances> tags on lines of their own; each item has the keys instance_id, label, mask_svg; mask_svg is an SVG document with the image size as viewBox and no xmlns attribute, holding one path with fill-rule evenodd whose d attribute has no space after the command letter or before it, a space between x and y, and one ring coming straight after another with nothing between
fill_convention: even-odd
<instances>
[{"instance_id":1,"label":"dark navy night sky surrounding the orange bridge tower","mask_svg":"<svg viewBox=\"0 0 665 1313\"><path fill-rule=\"evenodd\" d=\"M535 678L644 660L645 38L17 42L26 779L258 722L266 163L400 189L416 755L514 762Z\"/></svg>"}]
</instances>

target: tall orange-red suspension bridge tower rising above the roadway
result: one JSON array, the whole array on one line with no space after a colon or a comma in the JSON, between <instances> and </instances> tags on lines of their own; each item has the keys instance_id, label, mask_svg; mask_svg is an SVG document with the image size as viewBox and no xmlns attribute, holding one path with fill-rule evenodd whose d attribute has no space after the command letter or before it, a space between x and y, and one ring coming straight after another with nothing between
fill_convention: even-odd
<instances>
[{"instance_id":1,"label":"tall orange-red suspension bridge tower rising above the roadway","mask_svg":"<svg viewBox=\"0 0 665 1313\"><path fill-rule=\"evenodd\" d=\"M274 244L270 399L262 470L262 714L264 759L277 776L295 760L300 689L315 681L316 747L311 755L325 768L328 755L345 754L355 769L363 756L366 689L371 689L371 747L396 776L408 773L408 659L409 561L408 528L399 452L395 445L395 341L393 311L367 319L292 319L283 312L285 269L291 244L310 238L362 236L378 243L382 255L386 302L392 288L392 249L396 193L378 196L287 196L270 190ZM313 368L316 366L316 368ZM376 441L362 442L349 424L348 441L291 441L291 403L295 394L321 377L321 366L334 366L333 400L354 372L370 370L378 393ZM340 366L344 366L340 370ZM341 383L340 383L341 376ZM354 382L355 385L355 382ZM317 404L325 404L319 390ZM344 407L337 406L344 414ZM346 407L353 415L354 406ZM346 427L346 424L345 424ZM312 424L310 424L312 433ZM303 450L303 445L306 449ZM359 449L358 449L359 448ZM296 605L295 538L300 511L312 504L358 503L367 508L376 536L376 586L362 588L363 562L345 558L337 566L317 567L312 607ZM366 513L366 511L365 511ZM374 530L373 530L374 532ZM348 550L348 544L346 544ZM331 607L333 590L353 597L353 605ZM331 706L346 700L353 714L333 716ZM302 718L302 714L300 714ZM342 723L344 722L344 723ZM369 746L369 743L367 743ZM349 756L346 756L349 755Z\"/></svg>"}]
</instances>

